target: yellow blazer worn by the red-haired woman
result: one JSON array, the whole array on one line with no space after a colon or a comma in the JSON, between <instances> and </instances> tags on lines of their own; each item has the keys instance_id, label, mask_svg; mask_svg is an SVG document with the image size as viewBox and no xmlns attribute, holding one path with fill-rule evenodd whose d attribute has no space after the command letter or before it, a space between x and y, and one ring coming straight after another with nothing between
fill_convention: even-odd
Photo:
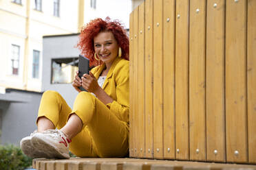
<instances>
[{"instance_id":1,"label":"yellow blazer worn by the red-haired woman","mask_svg":"<svg viewBox=\"0 0 256 170\"><path fill-rule=\"evenodd\" d=\"M91 72L96 79L105 69L105 64L94 67ZM112 63L106 80L103 84L103 90L114 101L107 104L107 107L116 114L120 121L125 121L129 125L129 61L116 57Z\"/></svg>"}]
</instances>

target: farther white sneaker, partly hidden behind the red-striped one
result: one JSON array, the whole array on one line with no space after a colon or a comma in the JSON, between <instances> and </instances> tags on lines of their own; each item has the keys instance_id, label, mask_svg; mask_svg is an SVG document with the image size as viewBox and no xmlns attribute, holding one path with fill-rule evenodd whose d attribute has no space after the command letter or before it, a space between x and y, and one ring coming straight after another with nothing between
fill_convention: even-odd
<instances>
[{"instance_id":1,"label":"farther white sneaker, partly hidden behind the red-striped one","mask_svg":"<svg viewBox=\"0 0 256 170\"><path fill-rule=\"evenodd\" d=\"M31 138L36 133L37 131L35 130L32 134L30 134L30 136L21 139L21 150L26 156L30 158L47 158L47 154L43 153L42 151L39 151L39 149L36 149L31 143Z\"/></svg>"}]
</instances>

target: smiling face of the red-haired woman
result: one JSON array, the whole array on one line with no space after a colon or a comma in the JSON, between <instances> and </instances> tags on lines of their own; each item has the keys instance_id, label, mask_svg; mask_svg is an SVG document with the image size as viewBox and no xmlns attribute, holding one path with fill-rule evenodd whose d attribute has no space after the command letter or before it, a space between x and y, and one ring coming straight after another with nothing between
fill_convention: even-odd
<instances>
[{"instance_id":1,"label":"smiling face of the red-haired woman","mask_svg":"<svg viewBox=\"0 0 256 170\"><path fill-rule=\"evenodd\" d=\"M94 37L94 51L101 61L111 66L118 56L118 43L111 32L100 32Z\"/></svg>"}]
</instances>

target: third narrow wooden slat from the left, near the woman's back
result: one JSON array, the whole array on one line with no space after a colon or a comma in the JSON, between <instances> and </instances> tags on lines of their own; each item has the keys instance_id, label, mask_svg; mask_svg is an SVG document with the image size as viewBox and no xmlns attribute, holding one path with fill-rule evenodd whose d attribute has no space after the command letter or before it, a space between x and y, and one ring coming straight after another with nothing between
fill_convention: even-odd
<instances>
[{"instance_id":1,"label":"third narrow wooden slat from the left, near the woman's back","mask_svg":"<svg viewBox=\"0 0 256 170\"><path fill-rule=\"evenodd\" d=\"M138 157L145 158L145 2L139 6L138 23Z\"/></svg>"}]
</instances>

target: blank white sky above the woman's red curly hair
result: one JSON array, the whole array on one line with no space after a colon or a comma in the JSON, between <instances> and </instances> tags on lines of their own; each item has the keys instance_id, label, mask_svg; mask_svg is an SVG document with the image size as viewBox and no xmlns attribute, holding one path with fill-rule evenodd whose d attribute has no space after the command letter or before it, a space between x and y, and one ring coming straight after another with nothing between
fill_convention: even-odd
<instances>
[{"instance_id":1,"label":"blank white sky above the woman's red curly hair","mask_svg":"<svg viewBox=\"0 0 256 170\"><path fill-rule=\"evenodd\" d=\"M110 19L118 19L129 28L129 14L131 13L131 0L96 0L96 9L91 8L91 0L85 0L85 23L92 19L107 16Z\"/></svg>"}]
</instances>

